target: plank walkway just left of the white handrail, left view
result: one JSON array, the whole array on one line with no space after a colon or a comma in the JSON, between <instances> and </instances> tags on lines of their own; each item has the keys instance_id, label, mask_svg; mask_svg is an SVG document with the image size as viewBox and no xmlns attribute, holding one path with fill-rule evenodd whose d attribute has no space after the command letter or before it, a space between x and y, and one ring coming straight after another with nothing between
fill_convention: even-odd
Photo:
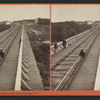
<instances>
[{"instance_id":1,"label":"plank walkway just left of the white handrail, left view","mask_svg":"<svg viewBox=\"0 0 100 100\"><path fill-rule=\"evenodd\" d=\"M9 52L0 67L0 91L14 90L18 63L19 40L21 37L20 33L21 30L13 41Z\"/></svg>"}]
</instances>

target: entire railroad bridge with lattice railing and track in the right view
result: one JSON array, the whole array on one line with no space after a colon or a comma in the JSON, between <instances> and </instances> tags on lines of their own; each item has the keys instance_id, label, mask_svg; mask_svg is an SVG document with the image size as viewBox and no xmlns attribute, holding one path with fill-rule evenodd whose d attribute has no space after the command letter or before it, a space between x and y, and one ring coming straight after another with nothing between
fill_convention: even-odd
<instances>
[{"instance_id":1,"label":"entire railroad bridge with lattice railing and track in the right view","mask_svg":"<svg viewBox=\"0 0 100 100\"><path fill-rule=\"evenodd\" d=\"M51 89L100 90L100 24L66 39L66 48L57 46L51 46Z\"/></svg>"}]
</instances>

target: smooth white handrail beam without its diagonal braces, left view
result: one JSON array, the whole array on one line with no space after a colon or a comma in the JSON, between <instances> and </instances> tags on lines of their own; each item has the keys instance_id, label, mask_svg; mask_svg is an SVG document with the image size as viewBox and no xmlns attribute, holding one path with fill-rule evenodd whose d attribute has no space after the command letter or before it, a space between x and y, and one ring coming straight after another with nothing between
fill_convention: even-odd
<instances>
[{"instance_id":1,"label":"smooth white handrail beam without its diagonal braces, left view","mask_svg":"<svg viewBox=\"0 0 100 100\"><path fill-rule=\"evenodd\" d=\"M21 36L20 49L19 49L17 75L16 75L16 80L15 80L15 89L14 90L16 90L16 91L21 90L23 34L24 34L24 26L22 26L22 36Z\"/></svg>"}]
</instances>

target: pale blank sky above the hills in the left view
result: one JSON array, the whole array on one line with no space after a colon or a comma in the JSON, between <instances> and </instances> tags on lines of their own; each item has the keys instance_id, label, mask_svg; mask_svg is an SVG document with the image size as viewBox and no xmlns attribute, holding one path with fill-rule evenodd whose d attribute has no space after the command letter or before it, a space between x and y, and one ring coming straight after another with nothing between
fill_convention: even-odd
<instances>
[{"instance_id":1,"label":"pale blank sky above the hills in the left view","mask_svg":"<svg viewBox=\"0 0 100 100\"><path fill-rule=\"evenodd\" d=\"M49 5L0 5L0 21L50 18Z\"/></svg>"}]
</instances>

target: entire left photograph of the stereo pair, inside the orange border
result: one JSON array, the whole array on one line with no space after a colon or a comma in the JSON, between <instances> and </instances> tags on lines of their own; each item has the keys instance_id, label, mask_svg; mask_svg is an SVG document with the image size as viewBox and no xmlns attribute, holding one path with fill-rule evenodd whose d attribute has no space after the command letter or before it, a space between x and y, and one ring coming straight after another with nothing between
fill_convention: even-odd
<instances>
[{"instance_id":1,"label":"entire left photograph of the stereo pair, inside the orange border","mask_svg":"<svg viewBox=\"0 0 100 100\"><path fill-rule=\"evenodd\" d=\"M50 5L0 5L0 91L50 90Z\"/></svg>"}]
</instances>

